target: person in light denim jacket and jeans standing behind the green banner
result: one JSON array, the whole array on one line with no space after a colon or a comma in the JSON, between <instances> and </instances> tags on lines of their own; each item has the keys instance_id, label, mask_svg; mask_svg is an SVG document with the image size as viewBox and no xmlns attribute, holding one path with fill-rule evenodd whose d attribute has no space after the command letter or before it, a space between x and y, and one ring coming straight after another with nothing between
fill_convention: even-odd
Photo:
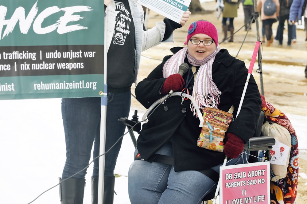
<instances>
[{"instance_id":1,"label":"person in light denim jacket and jeans standing behind the green banner","mask_svg":"<svg viewBox=\"0 0 307 204\"><path fill-rule=\"evenodd\" d=\"M173 42L173 30L185 25L191 12L184 12L179 23L164 18L156 26L143 30L144 12L136 0L104 0L107 33L107 115L103 203L112 204L114 169L125 125L119 117L128 117L131 85L136 81L141 51L160 42ZM103 37L103 35L101 36ZM103 56L101 56L103 57ZM100 65L103 69L103 65ZM63 98L62 117L66 142L66 162L62 178L66 179L86 168L91 158L99 156L101 98ZM60 184L62 204L82 204L86 169ZM92 204L98 199L99 160L94 161L91 178ZM88 201L86 202L88 203Z\"/></svg>"}]
</instances>

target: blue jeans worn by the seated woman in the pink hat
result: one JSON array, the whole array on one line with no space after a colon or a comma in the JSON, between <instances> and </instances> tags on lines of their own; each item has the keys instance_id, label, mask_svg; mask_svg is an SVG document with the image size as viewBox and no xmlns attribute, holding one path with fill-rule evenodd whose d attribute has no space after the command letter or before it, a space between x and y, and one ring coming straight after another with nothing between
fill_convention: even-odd
<instances>
[{"instance_id":1,"label":"blue jeans worn by the seated woman in the pink hat","mask_svg":"<svg viewBox=\"0 0 307 204\"><path fill-rule=\"evenodd\" d=\"M157 154L171 155L171 145L162 147ZM247 163L245 155L240 155L226 165L242 164L243 160ZM221 165L212 169L219 172ZM200 204L216 185L199 171L175 172L173 165L158 162L135 160L128 172L128 193L133 204Z\"/></svg>"}]
</instances>

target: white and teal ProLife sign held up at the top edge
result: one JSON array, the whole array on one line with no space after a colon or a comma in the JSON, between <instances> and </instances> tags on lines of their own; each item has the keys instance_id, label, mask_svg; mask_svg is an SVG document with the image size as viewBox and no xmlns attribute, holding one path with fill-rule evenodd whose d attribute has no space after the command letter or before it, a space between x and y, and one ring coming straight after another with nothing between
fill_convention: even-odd
<instances>
[{"instance_id":1,"label":"white and teal ProLife sign held up at the top edge","mask_svg":"<svg viewBox=\"0 0 307 204\"><path fill-rule=\"evenodd\" d=\"M188 10L191 0L139 0L138 3L174 22L180 23L182 15Z\"/></svg>"}]
</instances>

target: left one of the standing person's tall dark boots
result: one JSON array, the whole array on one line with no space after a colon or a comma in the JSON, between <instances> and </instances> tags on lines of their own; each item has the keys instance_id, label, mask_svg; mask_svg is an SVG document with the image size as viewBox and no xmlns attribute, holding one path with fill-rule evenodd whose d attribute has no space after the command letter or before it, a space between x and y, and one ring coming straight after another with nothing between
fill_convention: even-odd
<instances>
[{"instance_id":1,"label":"left one of the standing person's tall dark boots","mask_svg":"<svg viewBox=\"0 0 307 204\"><path fill-rule=\"evenodd\" d=\"M64 180L64 179L63 179ZM59 182L62 179L59 178ZM83 204L85 179L67 179L60 184L61 204Z\"/></svg>"}]
</instances>

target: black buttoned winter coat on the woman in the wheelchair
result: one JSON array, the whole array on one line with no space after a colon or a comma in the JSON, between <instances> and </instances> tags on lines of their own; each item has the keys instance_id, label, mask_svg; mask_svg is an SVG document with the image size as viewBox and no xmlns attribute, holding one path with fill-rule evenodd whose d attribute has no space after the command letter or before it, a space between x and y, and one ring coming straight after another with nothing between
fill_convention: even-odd
<instances>
[{"instance_id":1,"label":"black buttoned winter coat on the woman in the wheelchair","mask_svg":"<svg viewBox=\"0 0 307 204\"><path fill-rule=\"evenodd\" d=\"M175 53L179 49L181 48L176 47L171 50ZM162 74L163 65L169 57L171 56L166 56L135 89L137 100L145 108L149 108L164 96L159 94L159 91L165 81ZM218 108L227 112L233 104L234 117L247 79L247 71L245 63L232 57L226 49L220 50L212 65L212 79L222 92ZM183 78L187 81L187 73ZM194 80L188 85L190 94L193 84ZM150 112L152 115L143 125L137 141L137 148L142 158L148 160L165 143L172 141L175 171L202 170L223 163L224 153L196 145L201 131L200 121L192 114L191 100L184 100L182 105L181 102L181 96L171 96L164 104ZM255 79L251 75L241 111L229 126L228 132L247 141L255 132L260 111L261 97Z\"/></svg>"}]
</instances>

